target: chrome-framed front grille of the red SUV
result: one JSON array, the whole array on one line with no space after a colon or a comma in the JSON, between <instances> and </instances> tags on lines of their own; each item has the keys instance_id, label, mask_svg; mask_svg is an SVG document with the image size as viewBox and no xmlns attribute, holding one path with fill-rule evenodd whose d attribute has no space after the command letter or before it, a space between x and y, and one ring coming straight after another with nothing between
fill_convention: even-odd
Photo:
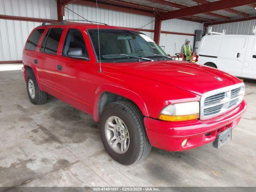
<instances>
[{"instance_id":1,"label":"chrome-framed front grille of the red SUV","mask_svg":"<svg viewBox=\"0 0 256 192\"><path fill-rule=\"evenodd\" d=\"M218 116L238 106L244 97L244 83L212 90L202 95L200 119Z\"/></svg>"}]
</instances>

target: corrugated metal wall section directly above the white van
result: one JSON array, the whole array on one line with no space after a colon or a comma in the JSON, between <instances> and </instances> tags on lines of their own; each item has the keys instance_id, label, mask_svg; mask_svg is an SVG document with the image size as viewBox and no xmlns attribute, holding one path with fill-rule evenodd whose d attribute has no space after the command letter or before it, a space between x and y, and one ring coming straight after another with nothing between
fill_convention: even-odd
<instances>
[{"instance_id":1,"label":"corrugated metal wall section directly above the white van","mask_svg":"<svg viewBox=\"0 0 256 192\"><path fill-rule=\"evenodd\" d=\"M222 31L226 29L226 34L252 35L252 30L254 26L256 26L256 20L248 20L248 21L213 25L212 31L222 33Z\"/></svg>"}]
</instances>

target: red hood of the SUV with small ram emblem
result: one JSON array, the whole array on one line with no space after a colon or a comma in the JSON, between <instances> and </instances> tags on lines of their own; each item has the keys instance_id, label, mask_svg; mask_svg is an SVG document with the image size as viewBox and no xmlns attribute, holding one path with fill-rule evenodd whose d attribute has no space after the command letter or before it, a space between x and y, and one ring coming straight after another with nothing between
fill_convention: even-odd
<instances>
[{"instance_id":1,"label":"red hood of the SUV with small ram emblem","mask_svg":"<svg viewBox=\"0 0 256 192\"><path fill-rule=\"evenodd\" d=\"M183 61L155 61L136 63L102 63L102 67L141 76L202 95L210 90L242 81L208 66ZM221 78L222 81L217 78Z\"/></svg>"}]
</instances>

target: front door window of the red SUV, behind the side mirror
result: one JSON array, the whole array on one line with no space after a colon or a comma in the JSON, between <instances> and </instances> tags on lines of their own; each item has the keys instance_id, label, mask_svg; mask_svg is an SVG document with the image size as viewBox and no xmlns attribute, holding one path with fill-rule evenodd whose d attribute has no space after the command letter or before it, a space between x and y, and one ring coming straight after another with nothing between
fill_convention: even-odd
<instances>
[{"instance_id":1,"label":"front door window of the red SUV, behind the side mirror","mask_svg":"<svg viewBox=\"0 0 256 192\"><path fill-rule=\"evenodd\" d=\"M77 29L69 29L64 41L62 55L67 56L68 50L80 48L84 56L88 57L86 45L82 33Z\"/></svg>"}]
</instances>

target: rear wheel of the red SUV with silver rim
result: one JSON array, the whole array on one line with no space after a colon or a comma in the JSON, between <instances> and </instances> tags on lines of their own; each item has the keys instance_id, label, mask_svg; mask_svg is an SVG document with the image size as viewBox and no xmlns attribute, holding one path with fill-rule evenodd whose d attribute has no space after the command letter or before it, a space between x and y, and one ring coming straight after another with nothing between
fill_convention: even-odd
<instances>
[{"instance_id":1,"label":"rear wheel of the red SUV with silver rim","mask_svg":"<svg viewBox=\"0 0 256 192\"><path fill-rule=\"evenodd\" d=\"M48 94L46 92L40 91L36 77L32 72L27 74L27 91L28 97L32 104L42 105L46 103Z\"/></svg>"}]
</instances>

